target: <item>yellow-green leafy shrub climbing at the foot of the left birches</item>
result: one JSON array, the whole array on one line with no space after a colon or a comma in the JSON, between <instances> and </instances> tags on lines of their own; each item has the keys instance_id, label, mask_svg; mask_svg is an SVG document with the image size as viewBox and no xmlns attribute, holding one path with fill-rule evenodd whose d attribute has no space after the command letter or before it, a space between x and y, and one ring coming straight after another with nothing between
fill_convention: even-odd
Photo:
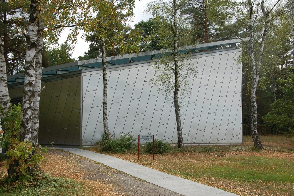
<instances>
[{"instance_id":1,"label":"yellow-green leafy shrub climbing at the foot of the left birches","mask_svg":"<svg viewBox=\"0 0 294 196\"><path fill-rule=\"evenodd\" d=\"M0 146L6 149L6 168L13 171L9 177L14 180L27 182L31 171L43 160L46 148L40 145L34 146L30 141L20 142L19 131L21 123L21 106L11 105L10 109L4 111L5 117L1 119L5 130L0 138ZM2 158L3 160L3 158Z\"/></svg>"}]
</instances>

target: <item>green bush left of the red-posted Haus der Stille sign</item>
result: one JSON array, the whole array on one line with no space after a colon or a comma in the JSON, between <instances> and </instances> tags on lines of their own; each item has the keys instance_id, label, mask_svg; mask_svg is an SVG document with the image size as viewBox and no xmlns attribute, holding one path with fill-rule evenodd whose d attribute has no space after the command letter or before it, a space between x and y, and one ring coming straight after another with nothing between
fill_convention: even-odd
<instances>
[{"instance_id":1,"label":"green bush left of the red-posted Haus der Stille sign","mask_svg":"<svg viewBox=\"0 0 294 196\"><path fill-rule=\"evenodd\" d=\"M121 135L121 138L113 138L110 140L103 139L102 135L102 141L101 143L103 147L101 148L102 152L113 152L113 153L122 153L126 152L128 150L131 150L135 144L136 138L129 134L123 134Z\"/></svg>"}]
</instances>

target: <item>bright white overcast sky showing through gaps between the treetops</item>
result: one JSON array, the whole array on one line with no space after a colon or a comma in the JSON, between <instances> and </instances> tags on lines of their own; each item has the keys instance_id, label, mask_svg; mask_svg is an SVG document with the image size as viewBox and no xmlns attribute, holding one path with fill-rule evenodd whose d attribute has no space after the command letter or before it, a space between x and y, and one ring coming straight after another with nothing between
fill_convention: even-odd
<instances>
[{"instance_id":1,"label":"bright white overcast sky showing through gaps between the treetops","mask_svg":"<svg viewBox=\"0 0 294 196\"><path fill-rule=\"evenodd\" d=\"M134 8L134 22L131 24L132 26L141 20L148 20L151 18L151 15L148 13L144 13L146 9L146 4L151 2L152 0L135 0L135 8ZM154 0L153 0L154 1ZM61 37L59 38L58 43L64 43L66 41L66 37L68 35L68 30L65 30L61 33ZM78 41L75 45L75 49L73 50L72 58L77 58L78 56L83 56L84 52L88 51L89 43L83 40L82 38L78 38Z\"/></svg>"}]
</instances>

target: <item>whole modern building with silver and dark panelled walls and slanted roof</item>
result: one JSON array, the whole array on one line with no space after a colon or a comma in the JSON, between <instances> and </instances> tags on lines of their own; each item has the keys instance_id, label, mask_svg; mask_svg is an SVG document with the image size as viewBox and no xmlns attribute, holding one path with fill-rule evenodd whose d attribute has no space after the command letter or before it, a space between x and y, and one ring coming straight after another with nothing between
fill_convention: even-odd
<instances>
[{"instance_id":1,"label":"whole modern building with silver and dark panelled walls and slanted roof","mask_svg":"<svg viewBox=\"0 0 294 196\"><path fill-rule=\"evenodd\" d=\"M239 39L180 48L196 66L186 87L181 120L186 144L242 143ZM153 83L154 63L166 50L107 57L108 126L112 137L153 134L177 142L174 108ZM94 145L103 133L102 59L42 69L39 143ZM23 73L8 77L13 103L21 100Z\"/></svg>"}]
</instances>

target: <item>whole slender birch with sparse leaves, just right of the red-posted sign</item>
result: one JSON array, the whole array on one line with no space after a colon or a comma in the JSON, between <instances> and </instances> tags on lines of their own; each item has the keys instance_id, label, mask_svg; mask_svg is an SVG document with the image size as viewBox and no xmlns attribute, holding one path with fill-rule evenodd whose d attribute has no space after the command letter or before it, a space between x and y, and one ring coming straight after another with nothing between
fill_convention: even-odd
<instances>
[{"instance_id":1,"label":"whole slender birch with sparse leaves, just right of the red-posted sign","mask_svg":"<svg viewBox=\"0 0 294 196\"><path fill-rule=\"evenodd\" d=\"M167 43L170 43L170 47L172 48L171 61L168 63L163 63L163 67L166 67L165 71L161 73L159 78L166 78L165 82L167 85L171 85L168 88L172 88L172 101L173 106L175 107L175 115L176 115L176 125L177 125L177 138L178 138L178 148L184 148L183 143L183 135L182 135L182 125L181 125L181 112L180 112L180 103L179 103L179 91L180 91L180 73L182 66L179 66L178 59L178 43L179 43L179 25L178 25L178 16L180 13L180 9L184 7L185 1L160 1L156 5L149 4L150 8L147 11L151 11L153 16L161 18L164 22L161 26L161 31L169 34L169 37L166 37ZM182 21L181 21L182 22ZM181 24L183 25L183 23ZM183 29L181 29L183 30ZM184 37L184 33L181 31L182 36ZM183 42L184 43L184 42ZM165 64L165 65L164 65ZM159 68L157 66L157 68ZM158 71L157 71L158 72ZM159 71L160 72L160 71ZM170 73L168 73L170 72ZM173 76L173 81L169 81ZM166 89L166 88L165 88Z\"/></svg>"}]
</instances>

